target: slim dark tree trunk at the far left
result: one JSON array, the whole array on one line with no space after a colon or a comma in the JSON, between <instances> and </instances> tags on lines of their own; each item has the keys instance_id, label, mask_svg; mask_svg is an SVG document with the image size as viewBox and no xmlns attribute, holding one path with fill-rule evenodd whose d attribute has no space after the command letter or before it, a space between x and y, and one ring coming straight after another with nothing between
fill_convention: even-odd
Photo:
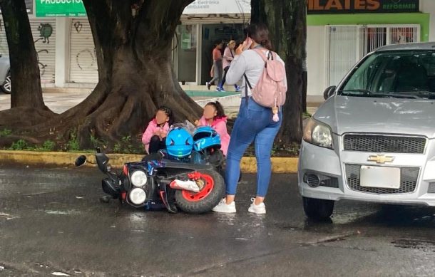
<instances>
[{"instance_id":1,"label":"slim dark tree trunk at the far left","mask_svg":"<svg viewBox=\"0 0 435 277\"><path fill-rule=\"evenodd\" d=\"M48 110L24 0L0 0L11 63L11 108Z\"/></svg>"}]
</instances>

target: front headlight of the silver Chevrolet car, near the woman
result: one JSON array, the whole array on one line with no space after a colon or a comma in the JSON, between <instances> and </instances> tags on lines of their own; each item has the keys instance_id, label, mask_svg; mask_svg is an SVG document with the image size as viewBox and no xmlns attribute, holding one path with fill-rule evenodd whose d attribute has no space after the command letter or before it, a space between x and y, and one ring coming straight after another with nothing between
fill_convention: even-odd
<instances>
[{"instance_id":1,"label":"front headlight of the silver Chevrolet car, near the woman","mask_svg":"<svg viewBox=\"0 0 435 277\"><path fill-rule=\"evenodd\" d=\"M310 118L305 126L304 140L313 145L334 149L331 128L313 118Z\"/></svg>"}]
</instances>

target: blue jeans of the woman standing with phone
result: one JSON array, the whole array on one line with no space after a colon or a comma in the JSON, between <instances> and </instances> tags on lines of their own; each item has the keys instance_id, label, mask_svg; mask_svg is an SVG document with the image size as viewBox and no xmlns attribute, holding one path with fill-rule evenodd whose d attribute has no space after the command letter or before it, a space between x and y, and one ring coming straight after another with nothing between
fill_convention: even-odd
<instances>
[{"instance_id":1,"label":"blue jeans of the woman standing with phone","mask_svg":"<svg viewBox=\"0 0 435 277\"><path fill-rule=\"evenodd\" d=\"M242 98L227 153L227 170L225 172L227 195L235 195L237 181L240 176L240 160L242 160L247 147L255 142L257 196L266 196L270 175L272 174L270 153L282 122L281 111L279 113L280 121L278 122L272 120L272 115L271 108L258 105L252 98L249 98L248 101Z\"/></svg>"}]
</instances>

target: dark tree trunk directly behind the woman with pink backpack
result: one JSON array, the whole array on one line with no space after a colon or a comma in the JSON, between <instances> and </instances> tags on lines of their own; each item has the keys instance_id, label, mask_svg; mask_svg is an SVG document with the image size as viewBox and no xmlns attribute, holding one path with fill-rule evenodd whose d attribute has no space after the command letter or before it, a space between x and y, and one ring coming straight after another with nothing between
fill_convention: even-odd
<instances>
[{"instance_id":1,"label":"dark tree trunk directly behind the woman with pink backpack","mask_svg":"<svg viewBox=\"0 0 435 277\"><path fill-rule=\"evenodd\" d=\"M277 137L283 145L302 139L302 62L307 56L306 1L252 0L251 21L269 26L272 47L285 61L287 100Z\"/></svg>"}]
</instances>

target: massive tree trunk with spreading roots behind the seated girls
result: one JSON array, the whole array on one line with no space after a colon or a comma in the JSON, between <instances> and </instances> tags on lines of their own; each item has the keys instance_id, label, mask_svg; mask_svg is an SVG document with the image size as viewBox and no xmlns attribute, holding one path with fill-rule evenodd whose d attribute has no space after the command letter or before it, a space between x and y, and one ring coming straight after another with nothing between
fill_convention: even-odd
<instances>
[{"instance_id":1,"label":"massive tree trunk with spreading roots behind the seated girls","mask_svg":"<svg viewBox=\"0 0 435 277\"><path fill-rule=\"evenodd\" d=\"M172 108L176 121L198 119L202 109L181 89L171 61L175 28L192 1L83 0L98 84L76 107L23 130L36 134L39 142L68 140L76 132L83 148L92 146L92 137L110 147L121 137L138 137L160 105Z\"/></svg>"}]
</instances>

